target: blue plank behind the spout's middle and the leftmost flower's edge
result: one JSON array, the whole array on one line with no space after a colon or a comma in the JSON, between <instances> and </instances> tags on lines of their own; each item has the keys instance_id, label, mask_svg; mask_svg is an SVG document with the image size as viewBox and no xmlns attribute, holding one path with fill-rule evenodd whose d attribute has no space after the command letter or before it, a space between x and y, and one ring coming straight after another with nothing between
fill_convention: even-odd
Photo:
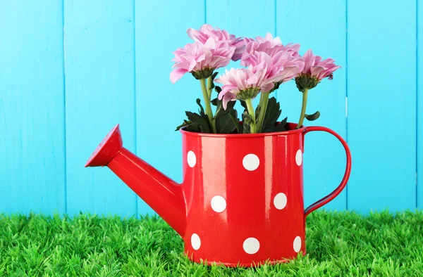
<instances>
[{"instance_id":1,"label":"blue plank behind the spout's middle and the leftmost flower's edge","mask_svg":"<svg viewBox=\"0 0 423 277\"><path fill-rule=\"evenodd\" d=\"M198 110L195 99L202 94L192 75L171 83L172 52L192 41L188 28L202 24L204 1L135 3L137 155L178 182L182 146L175 129L186 119L185 110ZM141 199L138 212L154 214Z\"/></svg>"}]
</instances>

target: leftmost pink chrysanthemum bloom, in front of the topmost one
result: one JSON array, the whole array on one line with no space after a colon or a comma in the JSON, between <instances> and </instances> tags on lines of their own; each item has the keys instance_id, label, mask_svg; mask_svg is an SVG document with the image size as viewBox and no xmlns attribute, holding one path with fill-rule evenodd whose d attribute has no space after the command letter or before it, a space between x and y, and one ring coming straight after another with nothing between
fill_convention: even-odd
<instances>
[{"instance_id":1,"label":"leftmost pink chrysanthemum bloom, in front of the topmost one","mask_svg":"<svg viewBox=\"0 0 423 277\"><path fill-rule=\"evenodd\" d=\"M175 61L171 72L171 82L178 81L187 72L191 72L197 78L207 78L219 67L225 67L231 62L235 52L235 46L230 46L228 41L215 41L210 37L203 44L195 41L187 44L184 48L177 49L173 53Z\"/></svg>"}]
</instances>

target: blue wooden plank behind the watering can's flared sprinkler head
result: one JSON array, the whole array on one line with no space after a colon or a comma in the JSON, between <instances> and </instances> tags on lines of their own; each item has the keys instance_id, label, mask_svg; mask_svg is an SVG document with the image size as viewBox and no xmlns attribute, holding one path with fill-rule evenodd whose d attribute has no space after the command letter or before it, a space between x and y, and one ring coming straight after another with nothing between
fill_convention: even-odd
<instances>
[{"instance_id":1,"label":"blue wooden plank behind the watering can's flared sprinkler head","mask_svg":"<svg viewBox=\"0 0 423 277\"><path fill-rule=\"evenodd\" d=\"M115 124L135 150L134 7L65 0L68 212L136 214L136 195L108 168L85 168Z\"/></svg>"}]
</instances>

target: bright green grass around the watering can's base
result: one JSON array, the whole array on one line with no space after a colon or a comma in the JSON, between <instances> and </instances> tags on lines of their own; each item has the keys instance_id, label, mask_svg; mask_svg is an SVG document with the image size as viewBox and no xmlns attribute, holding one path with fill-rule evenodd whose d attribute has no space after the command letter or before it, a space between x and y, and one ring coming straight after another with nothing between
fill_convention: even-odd
<instances>
[{"instance_id":1,"label":"bright green grass around the watering can's base","mask_svg":"<svg viewBox=\"0 0 423 277\"><path fill-rule=\"evenodd\" d=\"M157 217L0 215L0 276L423 276L423 212L314 212L307 255L229 269L194 264Z\"/></svg>"}]
</instances>

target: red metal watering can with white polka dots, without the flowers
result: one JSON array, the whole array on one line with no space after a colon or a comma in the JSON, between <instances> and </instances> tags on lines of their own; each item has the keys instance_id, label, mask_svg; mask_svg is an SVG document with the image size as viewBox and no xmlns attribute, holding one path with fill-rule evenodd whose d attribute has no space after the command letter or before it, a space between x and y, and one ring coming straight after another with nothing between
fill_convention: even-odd
<instances>
[{"instance_id":1,"label":"red metal watering can with white polka dots, without the flowers","mask_svg":"<svg viewBox=\"0 0 423 277\"><path fill-rule=\"evenodd\" d=\"M185 243L194 262L254 266L305 255L305 218L336 198L350 176L347 143L331 129L288 123L289 131L204 134L180 129L183 183L179 184L123 148L119 125L85 167L107 166ZM304 210L302 153L305 134L326 131L347 155L338 188Z\"/></svg>"}]
</instances>

